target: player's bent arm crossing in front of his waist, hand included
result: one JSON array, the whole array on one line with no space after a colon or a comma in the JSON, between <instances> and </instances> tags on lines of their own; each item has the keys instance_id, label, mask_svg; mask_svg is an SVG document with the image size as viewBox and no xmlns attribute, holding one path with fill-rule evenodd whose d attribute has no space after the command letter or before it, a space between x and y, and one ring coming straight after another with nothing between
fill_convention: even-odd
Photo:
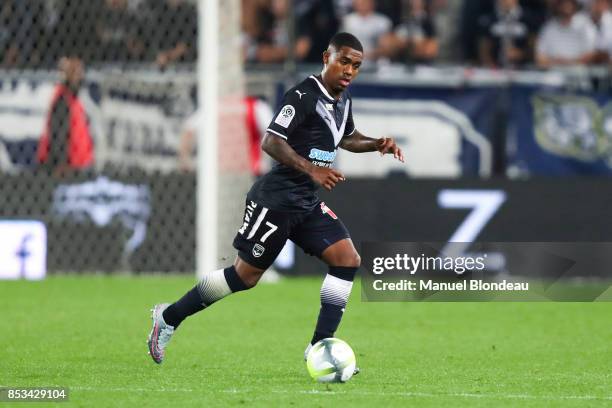
<instances>
[{"instance_id":1,"label":"player's bent arm crossing in front of his waist, hand included","mask_svg":"<svg viewBox=\"0 0 612 408\"><path fill-rule=\"evenodd\" d=\"M345 178L337 170L327 167L317 167L297 154L283 138L266 133L261 148L274 160L310 176L315 183L331 191L338 182Z\"/></svg>"}]
</instances>

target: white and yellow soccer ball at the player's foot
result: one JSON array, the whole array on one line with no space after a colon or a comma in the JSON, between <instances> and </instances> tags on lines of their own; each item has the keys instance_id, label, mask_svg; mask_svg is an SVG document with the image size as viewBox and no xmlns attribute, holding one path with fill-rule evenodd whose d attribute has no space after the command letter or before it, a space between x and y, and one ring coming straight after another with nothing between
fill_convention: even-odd
<instances>
[{"instance_id":1,"label":"white and yellow soccer ball at the player's foot","mask_svg":"<svg viewBox=\"0 0 612 408\"><path fill-rule=\"evenodd\" d=\"M310 376L318 382L346 382L355 371L355 353L345 341L330 337L317 342L306 357Z\"/></svg>"}]
</instances>

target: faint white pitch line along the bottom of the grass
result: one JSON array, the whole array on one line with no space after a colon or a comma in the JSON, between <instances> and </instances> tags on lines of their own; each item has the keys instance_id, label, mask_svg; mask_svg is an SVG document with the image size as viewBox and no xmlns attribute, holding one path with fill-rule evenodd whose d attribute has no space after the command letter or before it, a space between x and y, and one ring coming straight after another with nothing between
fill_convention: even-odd
<instances>
[{"instance_id":1,"label":"faint white pitch line along the bottom of the grass","mask_svg":"<svg viewBox=\"0 0 612 408\"><path fill-rule=\"evenodd\" d=\"M102 391L102 392L200 392L191 388L128 388L128 387L69 387L70 390L81 391ZM253 389L238 389L230 388L219 390L224 394L245 394L252 393ZM303 390L303 391L287 391L287 390L272 390L275 394L309 394L309 395L361 395L361 396L396 396L396 397L458 397L458 398L491 398L491 399L531 399L531 400L587 400L587 401L612 401L612 396L596 396L596 395L531 395L531 394L491 394L491 393L434 393L434 392L371 392L371 391L325 391L325 390Z\"/></svg>"}]
</instances>

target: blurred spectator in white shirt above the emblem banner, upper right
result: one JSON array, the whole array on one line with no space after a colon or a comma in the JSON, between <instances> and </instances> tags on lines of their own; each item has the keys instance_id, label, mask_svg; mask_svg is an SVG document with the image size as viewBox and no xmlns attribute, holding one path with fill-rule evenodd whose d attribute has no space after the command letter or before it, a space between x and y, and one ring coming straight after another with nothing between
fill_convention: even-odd
<instances>
[{"instance_id":1,"label":"blurred spectator in white shirt above the emblem banner, upper right","mask_svg":"<svg viewBox=\"0 0 612 408\"><path fill-rule=\"evenodd\" d=\"M536 45L536 62L542 68L585 64L593 58L596 30L591 20L578 14L576 0L556 0L555 16L542 28Z\"/></svg>"}]
</instances>

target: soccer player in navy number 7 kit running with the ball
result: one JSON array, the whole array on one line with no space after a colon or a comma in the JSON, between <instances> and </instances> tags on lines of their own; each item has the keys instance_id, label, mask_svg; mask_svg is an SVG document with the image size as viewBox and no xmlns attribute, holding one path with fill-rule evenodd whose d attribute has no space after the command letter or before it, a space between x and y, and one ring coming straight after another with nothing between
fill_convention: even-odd
<instances>
[{"instance_id":1,"label":"soccer player in navy number 7 kit running with the ball","mask_svg":"<svg viewBox=\"0 0 612 408\"><path fill-rule=\"evenodd\" d=\"M378 151L404 161L391 138L372 139L353 123L346 92L359 73L363 47L349 33L336 34L323 53L323 70L285 94L263 140L263 150L276 160L247 194L244 222L234 247L233 265L208 272L181 299L155 305L149 354L156 363L181 322L222 298L257 284L287 239L329 265L321 287L321 309L308 344L334 337L353 286L360 258L340 219L316 195L345 180L331 168L338 147L354 153Z\"/></svg>"}]
</instances>

